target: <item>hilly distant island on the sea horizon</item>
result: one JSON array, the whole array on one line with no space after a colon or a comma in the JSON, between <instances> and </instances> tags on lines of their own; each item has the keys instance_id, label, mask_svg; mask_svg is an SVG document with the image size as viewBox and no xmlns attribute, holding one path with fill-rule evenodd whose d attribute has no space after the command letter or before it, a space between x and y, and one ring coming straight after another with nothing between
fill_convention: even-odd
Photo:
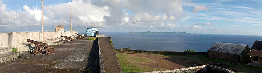
<instances>
[{"instance_id":1,"label":"hilly distant island on the sea horizon","mask_svg":"<svg viewBox=\"0 0 262 73\"><path fill-rule=\"evenodd\" d=\"M128 34L191 34L187 32L151 32L151 31L146 31L146 32L129 32Z\"/></svg>"}]
</instances>

